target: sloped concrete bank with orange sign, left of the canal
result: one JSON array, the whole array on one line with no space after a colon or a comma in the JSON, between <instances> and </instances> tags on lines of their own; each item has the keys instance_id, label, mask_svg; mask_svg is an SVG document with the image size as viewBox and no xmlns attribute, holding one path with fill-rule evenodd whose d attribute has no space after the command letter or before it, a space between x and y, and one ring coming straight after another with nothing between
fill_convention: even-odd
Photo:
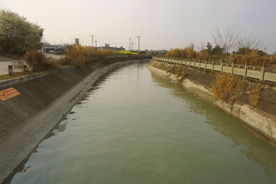
<instances>
[{"instance_id":1,"label":"sloped concrete bank with orange sign, left of the canal","mask_svg":"<svg viewBox=\"0 0 276 184\"><path fill-rule=\"evenodd\" d=\"M108 59L0 82L20 95L0 100L0 183L7 183L44 137L66 116L90 86L111 68L150 59Z\"/></svg>"}]
</instances>

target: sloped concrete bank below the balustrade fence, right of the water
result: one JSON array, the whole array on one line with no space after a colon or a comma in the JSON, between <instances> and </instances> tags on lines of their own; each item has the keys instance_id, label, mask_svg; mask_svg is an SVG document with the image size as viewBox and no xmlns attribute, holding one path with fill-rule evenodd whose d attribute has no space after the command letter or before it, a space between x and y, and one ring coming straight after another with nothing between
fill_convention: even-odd
<instances>
[{"instance_id":1,"label":"sloped concrete bank below the balustrade fence, right of the water","mask_svg":"<svg viewBox=\"0 0 276 184\"><path fill-rule=\"evenodd\" d=\"M248 103L232 106L221 101L213 100L211 85L216 80L215 72L169 64L157 60L151 60L147 66L151 71L181 83L183 87L193 91L193 93L205 100L214 103L233 117L239 119L245 125L266 136L268 140L276 143L276 87L274 84L270 83L270 86L264 86L265 83L258 84L263 87L263 93L260 97L261 109L251 108ZM187 74L182 79L177 77L179 67L184 67L185 73ZM249 93L250 89L252 89L250 83L252 84L252 81L246 79L246 90ZM244 95L247 94L245 93Z\"/></svg>"}]
</instances>

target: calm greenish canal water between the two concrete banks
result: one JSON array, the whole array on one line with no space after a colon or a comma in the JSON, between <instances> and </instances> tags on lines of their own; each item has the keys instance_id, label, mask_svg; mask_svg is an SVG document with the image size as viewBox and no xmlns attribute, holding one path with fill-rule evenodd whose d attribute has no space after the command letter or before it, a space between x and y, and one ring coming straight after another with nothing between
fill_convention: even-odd
<instances>
[{"instance_id":1,"label":"calm greenish canal water between the two concrete banks","mask_svg":"<svg viewBox=\"0 0 276 184\"><path fill-rule=\"evenodd\" d=\"M276 183L276 147L135 63L101 76L11 183Z\"/></svg>"}]
</instances>

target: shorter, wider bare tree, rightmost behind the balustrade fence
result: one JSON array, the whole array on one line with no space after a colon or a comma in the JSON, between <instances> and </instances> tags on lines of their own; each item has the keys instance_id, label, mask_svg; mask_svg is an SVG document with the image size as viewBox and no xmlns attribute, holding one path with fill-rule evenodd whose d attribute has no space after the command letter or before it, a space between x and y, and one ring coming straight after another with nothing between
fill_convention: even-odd
<instances>
[{"instance_id":1,"label":"shorter, wider bare tree, rightmost behind the balustrade fence","mask_svg":"<svg viewBox=\"0 0 276 184\"><path fill-rule=\"evenodd\" d=\"M261 41L260 39L256 37L250 36L244 36L240 37L237 40L236 49L239 50L240 48L245 48L248 50L255 50L260 49L264 47L264 41Z\"/></svg>"}]
</instances>

